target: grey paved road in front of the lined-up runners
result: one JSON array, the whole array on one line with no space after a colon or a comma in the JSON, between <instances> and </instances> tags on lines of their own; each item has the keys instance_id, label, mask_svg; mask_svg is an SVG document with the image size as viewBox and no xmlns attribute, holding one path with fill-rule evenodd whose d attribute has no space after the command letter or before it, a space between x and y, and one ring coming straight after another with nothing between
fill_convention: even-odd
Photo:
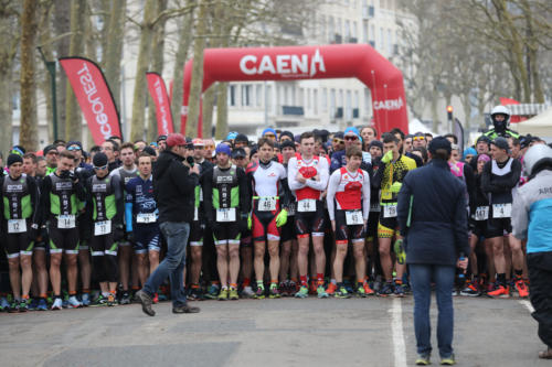
<instances>
[{"instance_id":1,"label":"grey paved road in front of the lined-up runners","mask_svg":"<svg viewBox=\"0 0 552 367\"><path fill-rule=\"evenodd\" d=\"M201 313L184 315L159 304L155 317L136 304L0 314L0 366L402 367L415 358L412 298L195 304ZM523 301L456 298L455 307L459 366L551 366L537 357L543 345Z\"/></svg>"}]
</instances>

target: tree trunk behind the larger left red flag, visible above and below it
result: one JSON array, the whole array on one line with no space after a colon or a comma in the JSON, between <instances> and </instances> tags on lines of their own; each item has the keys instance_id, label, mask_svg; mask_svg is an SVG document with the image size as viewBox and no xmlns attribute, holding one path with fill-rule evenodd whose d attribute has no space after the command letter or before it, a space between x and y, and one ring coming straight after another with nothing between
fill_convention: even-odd
<instances>
[{"instance_id":1,"label":"tree trunk behind the larger left red flag, visible above and below it","mask_svg":"<svg viewBox=\"0 0 552 367\"><path fill-rule=\"evenodd\" d=\"M72 56L82 56L84 54L84 24L86 22L86 1L74 0L71 3L71 44L70 54ZM76 101L75 94L67 80L65 110L67 120L65 121L65 139L81 140L83 136L83 121L81 109Z\"/></svg>"}]
</instances>

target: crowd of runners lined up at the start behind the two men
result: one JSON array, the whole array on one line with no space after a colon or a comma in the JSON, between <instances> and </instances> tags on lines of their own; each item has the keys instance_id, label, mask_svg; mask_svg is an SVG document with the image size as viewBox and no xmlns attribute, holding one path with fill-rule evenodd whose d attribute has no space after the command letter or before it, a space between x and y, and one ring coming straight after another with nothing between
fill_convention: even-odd
<instances>
[{"instance_id":1,"label":"crowd of runners lined up at the start behind the two men","mask_svg":"<svg viewBox=\"0 0 552 367\"><path fill-rule=\"evenodd\" d=\"M493 129L464 151L445 136L450 173L466 186L473 249L450 291L527 298L512 195L527 181L524 152L545 142L510 130L502 106L491 117ZM182 147L184 164L200 170L183 270L189 300L407 295L397 197L406 174L427 163L432 139L373 127L299 136L267 128L257 141L230 132L217 144L160 136L112 137L87 152L79 141L39 152L15 145L0 177L0 309L136 302L166 247L152 171L167 144ZM169 289L153 302L170 299Z\"/></svg>"}]
</instances>

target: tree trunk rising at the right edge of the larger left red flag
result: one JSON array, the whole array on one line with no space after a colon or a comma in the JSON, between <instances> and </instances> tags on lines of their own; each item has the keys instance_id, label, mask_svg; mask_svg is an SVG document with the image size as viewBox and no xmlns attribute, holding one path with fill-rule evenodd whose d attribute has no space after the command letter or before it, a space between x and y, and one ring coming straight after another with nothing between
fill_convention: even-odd
<instances>
[{"instance_id":1,"label":"tree trunk rising at the right edge of the larger left red flag","mask_svg":"<svg viewBox=\"0 0 552 367\"><path fill-rule=\"evenodd\" d=\"M120 108L120 61L123 58L123 39L125 36L126 0L113 0L107 42L104 50L105 77L112 89L115 105Z\"/></svg>"}]
</instances>

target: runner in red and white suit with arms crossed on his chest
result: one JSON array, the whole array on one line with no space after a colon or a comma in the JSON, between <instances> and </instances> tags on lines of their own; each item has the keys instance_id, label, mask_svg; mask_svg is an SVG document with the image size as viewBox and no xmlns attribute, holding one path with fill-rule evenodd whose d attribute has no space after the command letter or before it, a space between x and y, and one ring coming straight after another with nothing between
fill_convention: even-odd
<instances>
[{"instance_id":1,"label":"runner in red and white suit with arms crossed on his chest","mask_svg":"<svg viewBox=\"0 0 552 367\"><path fill-rule=\"evenodd\" d=\"M295 225L297 241L299 242L297 262L301 287L295 295L297 298L308 295L307 268L309 236L311 235L317 272L317 293L319 298L327 298L328 294L323 288L326 253L323 252L325 212L322 194L328 185L328 160L314 155L315 136L312 132L301 134L300 151L300 154L298 153L289 159L287 174L289 188L295 192L297 197Z\"/></svg>"}]
</instances>

